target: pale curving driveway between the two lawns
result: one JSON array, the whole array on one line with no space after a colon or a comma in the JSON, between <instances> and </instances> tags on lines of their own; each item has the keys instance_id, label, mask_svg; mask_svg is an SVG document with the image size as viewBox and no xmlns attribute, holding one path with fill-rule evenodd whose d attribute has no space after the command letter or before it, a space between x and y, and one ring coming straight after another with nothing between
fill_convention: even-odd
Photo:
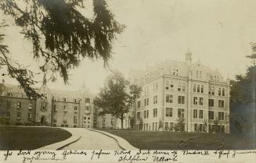
<instances>
[{"instance_id":1,"label":"pale curving driveway between the two lawns","mask_svg":"<svg viewBox=\"0 0 256 163\"><path fill-rule=\"evenodd\" d=\"M95 131L88 129L73 129L73 132L79 132L81 138L61 150L121 150L116 140Z\"/></svg>"}]
</instances>

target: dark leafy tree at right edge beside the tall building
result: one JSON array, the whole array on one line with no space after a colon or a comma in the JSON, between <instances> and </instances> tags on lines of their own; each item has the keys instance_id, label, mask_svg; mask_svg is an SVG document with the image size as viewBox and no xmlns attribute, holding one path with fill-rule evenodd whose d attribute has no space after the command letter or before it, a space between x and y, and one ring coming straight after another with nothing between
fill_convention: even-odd
<instances>
[{"instance_id":1,"label":"dark leafy tree at right edge beside the tall building","mask_svg":"<svg viewBox=\"0 0 256 163\"><path fill-rule=\"evenodd\" d=\"M255 92L256 92L256 43L251 44L252 60L247 73L236 75L236 80L230 82L230 124L233 132L251 134L255 127Z\"/></svg>"}]
</instances>

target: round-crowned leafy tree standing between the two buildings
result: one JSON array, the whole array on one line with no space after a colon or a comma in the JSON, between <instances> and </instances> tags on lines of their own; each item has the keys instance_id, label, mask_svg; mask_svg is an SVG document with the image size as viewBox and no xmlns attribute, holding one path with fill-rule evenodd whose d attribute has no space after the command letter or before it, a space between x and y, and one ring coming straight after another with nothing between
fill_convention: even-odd
<instances>
[{"instance_id":1,"label":"round-crowned leafy tree standing between the two buildings","mask_svg":"<svg viewBox=\"0 0 256 163\"><path fill-rule=\"evenodd\" d=\"M130 86L124 76L114 71L106 78L103 87L94 100L94 105L102 108L100 114L111 114L121 119L121 129L123 129L124 114L128 113L135 100L135 86Z\"/></svg>"}]
</instances>

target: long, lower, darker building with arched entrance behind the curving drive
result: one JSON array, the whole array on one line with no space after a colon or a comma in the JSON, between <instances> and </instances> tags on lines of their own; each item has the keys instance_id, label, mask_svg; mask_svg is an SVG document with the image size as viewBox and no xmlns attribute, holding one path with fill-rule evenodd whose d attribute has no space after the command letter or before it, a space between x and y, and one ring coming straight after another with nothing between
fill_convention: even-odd
<instances>
[{"instance_id":1,"label":"long, lower, darker building with arched entrance behind the curving drive","mask_svg":"<svg viewBox=\"0 0 256 163\"><path fill-rule=\"evenodd\" d=\"M0 84L0 115L5 125L93 127L93 95L88 91L38 89L41 97L29 98L11 84Z\"/></svg>"}]
</instances>

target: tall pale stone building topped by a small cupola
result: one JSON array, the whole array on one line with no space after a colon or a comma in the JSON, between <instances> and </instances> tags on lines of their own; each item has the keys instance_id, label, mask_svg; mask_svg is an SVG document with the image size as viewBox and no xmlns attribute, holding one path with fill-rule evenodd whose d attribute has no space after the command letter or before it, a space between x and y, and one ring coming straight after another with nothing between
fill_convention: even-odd
<instances>
[{"instance_id":1,"label":"tall pale stone building topped by a small cupola","mask_svg":"<svg viewBox=\"0 0 256 163\"><path fill-rule=\"evenodd\" d=\"M229 133L229 80L200 61L167 60L137 72L136 128Z\"/></svg>"}]
</instances>

